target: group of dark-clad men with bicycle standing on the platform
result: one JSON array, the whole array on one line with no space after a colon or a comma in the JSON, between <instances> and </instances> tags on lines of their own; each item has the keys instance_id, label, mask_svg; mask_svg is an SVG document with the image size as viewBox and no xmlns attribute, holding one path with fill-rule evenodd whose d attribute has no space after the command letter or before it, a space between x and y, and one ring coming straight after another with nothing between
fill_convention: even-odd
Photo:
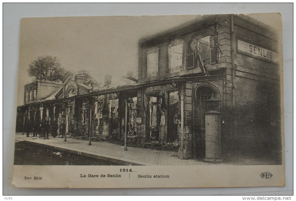
<instances>
[{"instance_id":1,"label":"group of dark-clad men with bicycle standing on the platform","mask_svg":"<svg viewBox=\"0 0 296 201\"><path fill-rule=\"evenodd\" d=\"M49 132L53 137L57 137L57 130L59 129L59 134L63 137L65 135L65 120L58 125L55 120L52 125L49 124L49 121L43 120L41 123L32 123L28 121L25 124L25 131L27 133L27 137L30 137L30 133L33 133L33 137L37 136L38 133L44 132L46 134L46 139L49 139Z\"/></svg>"}]
</instances>

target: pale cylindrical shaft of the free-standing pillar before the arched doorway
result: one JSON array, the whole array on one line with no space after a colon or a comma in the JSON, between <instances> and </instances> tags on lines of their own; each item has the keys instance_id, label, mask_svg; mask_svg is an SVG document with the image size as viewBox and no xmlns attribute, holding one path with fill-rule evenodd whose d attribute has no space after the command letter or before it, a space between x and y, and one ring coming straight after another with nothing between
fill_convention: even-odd
<instances>
[{"instance_id":1,"label":"pale cylindrical shaft of the free-standing pillar before the arched doorway","mask_svg":"<svg viewBox=\"0 0 296 201\"><path fill-rule=\"evenodd\" d=\"M205 161L222 161L221 114L214 110L205 112Z\"/></svg>"}]
</instances>

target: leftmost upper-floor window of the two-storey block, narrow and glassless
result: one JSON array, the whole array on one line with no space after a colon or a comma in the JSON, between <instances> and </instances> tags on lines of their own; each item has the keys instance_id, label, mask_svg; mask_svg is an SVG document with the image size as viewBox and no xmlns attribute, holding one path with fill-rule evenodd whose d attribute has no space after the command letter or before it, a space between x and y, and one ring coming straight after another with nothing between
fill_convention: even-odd
<instances>
[{"instance_id":1,"label":"leftmost upper-floor window of the two-storey block, narrow and glassless","mask_svg":"<svg viewBox=\"0 0 296 201\"><path fill-rule=\"evenodd\" d=\"M147 77L158 75L158 53L159 49L153 49L147 52Z\"/></svg>"}]
</instances>

